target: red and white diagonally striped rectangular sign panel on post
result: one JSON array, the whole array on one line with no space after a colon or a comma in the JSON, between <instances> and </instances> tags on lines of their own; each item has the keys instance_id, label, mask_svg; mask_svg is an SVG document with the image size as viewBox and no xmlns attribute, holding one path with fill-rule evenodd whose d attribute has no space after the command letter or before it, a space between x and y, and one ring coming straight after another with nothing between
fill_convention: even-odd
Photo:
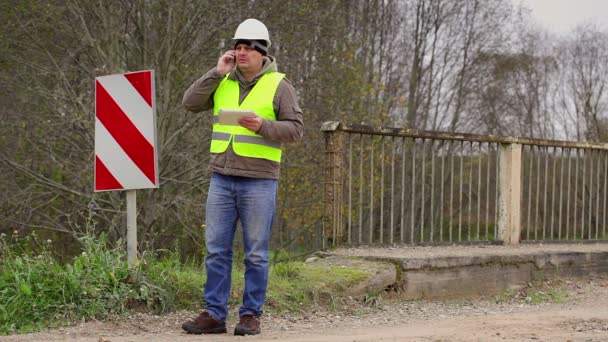
<instances>
[{"instance_id":1,"label":"red and white diagonally striped rectangular sign panel on post","mask_svg":"<svg viewBox=\"0 0 608 342\"><path fill-rule=\"evenodd\" d=\"M154 71L95 78L95 191L158 187Z\"/></svg>"}]
</instances>

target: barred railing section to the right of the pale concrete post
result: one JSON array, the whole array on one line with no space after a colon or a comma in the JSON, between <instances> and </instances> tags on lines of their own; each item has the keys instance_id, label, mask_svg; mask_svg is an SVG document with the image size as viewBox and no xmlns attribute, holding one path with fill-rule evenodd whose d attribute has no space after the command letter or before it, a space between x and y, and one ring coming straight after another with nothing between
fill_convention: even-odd
<instances>
[{"instance_id":1,"label":"barred railing section to the right of the pale concrete post","mask_svg":"<svg viewBox=\"0 0 608 342\"><path fill-rule=\"evenodd\" d=\"M522 240L606 239L606 148L524 146Z\"/></svg>"}]
</instances>

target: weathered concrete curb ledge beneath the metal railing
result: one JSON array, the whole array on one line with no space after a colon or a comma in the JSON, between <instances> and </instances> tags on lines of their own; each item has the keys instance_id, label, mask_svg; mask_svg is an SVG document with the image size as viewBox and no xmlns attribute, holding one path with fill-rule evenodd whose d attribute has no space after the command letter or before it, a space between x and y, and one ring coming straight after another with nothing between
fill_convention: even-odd
<instances>
[{"instance_id":1,"label":"weathered concrete curb ledge beneath the metal railing","mask_svg":"<svg viewBox=\"0 0 608 342\"><path fill-rule=\"evenodd\" d=\"M369 264L353 261L357 259ZM322 260L376 270L367 281L352 289L353 294L392 287L399 289L404 299L496 294L531 281L608 273L608 252L605 251L436 258L331 255Z\"/></svg>"}]
</instances>

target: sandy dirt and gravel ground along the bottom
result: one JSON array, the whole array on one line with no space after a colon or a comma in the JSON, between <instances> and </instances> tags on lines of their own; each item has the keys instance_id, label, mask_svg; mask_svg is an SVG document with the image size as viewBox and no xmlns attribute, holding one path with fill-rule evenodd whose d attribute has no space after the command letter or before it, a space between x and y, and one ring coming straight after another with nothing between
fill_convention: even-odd
<instances>
[{"instance_id":1,"label":"sandy dirt and gravel ground along the bottom","mask_svg":"<svg viewBox=\"0 0 608 342\"><path fill-rule=\"evenodd\" d=\"M545 282L515 292L450 301L368 298L334 312L267 314L262 335L253 337L185 334L181 322L196 313L179 312L86 322L45 333L3 336L0 341L608 341L608 277ZM530 297L550 292L558 294L553 297L557 302L535 303ZM232 317L229 329L234 324Z\"/></svg>"}]
</instances>

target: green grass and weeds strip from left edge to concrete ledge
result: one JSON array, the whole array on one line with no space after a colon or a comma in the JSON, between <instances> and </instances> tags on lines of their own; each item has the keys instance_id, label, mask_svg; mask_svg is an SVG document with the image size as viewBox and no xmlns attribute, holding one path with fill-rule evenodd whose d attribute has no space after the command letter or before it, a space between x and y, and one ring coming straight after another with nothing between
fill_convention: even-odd
<instances>
[{"instance_id":1,"label":"green grass and weeds strip from left edge to concrete ledge","mask_svg":"<svg viewBox=\"0 0 608 342\"><path fill-rule=\"evenodd\" d=\"M125 316L133 311L166 313L200 310L205 284L204 265L182 261L170 251L145 253L129 269L126 248L110 247L104 235L79 240L82 253L63 264L35 235L20 241L0 236L0 335L27 333L71 322ZM25 243L28 242L28 243ZM367 277L363 271L308 266L282 253L273 263L265 310L304 311L312 305L329 309L342 291ZM229 304L237 306L243 291L242 256L235 256Z\"/></svg>"}]
</instances>

